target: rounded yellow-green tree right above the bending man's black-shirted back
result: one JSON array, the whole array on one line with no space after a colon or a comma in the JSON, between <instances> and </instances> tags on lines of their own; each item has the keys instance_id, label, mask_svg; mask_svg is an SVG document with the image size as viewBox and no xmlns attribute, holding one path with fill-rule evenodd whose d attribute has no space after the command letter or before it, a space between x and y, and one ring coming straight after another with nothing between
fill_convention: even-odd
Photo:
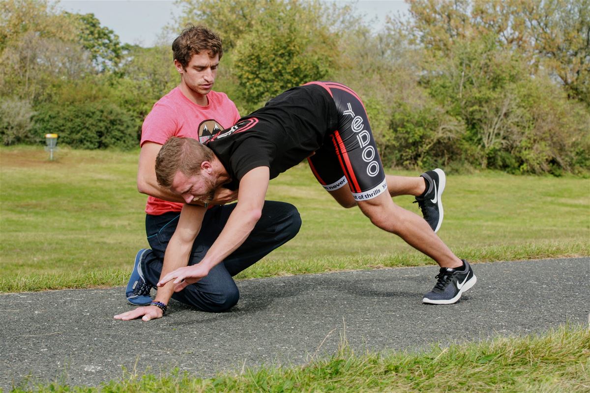
<instances>
[{"instance_id":1,"label":"rounded yellow-green tree right above the bending man's black-shirted back","mask_svg":"<svg viewBox=\"0 0 590 393\"><path fill-rule=\"evenodd\" d=\"M314 16L314 6L276 2L240 38L234 73L250 108L287 88L323 80L335 67L338 37Z\"/></svg>"}]
</instances>

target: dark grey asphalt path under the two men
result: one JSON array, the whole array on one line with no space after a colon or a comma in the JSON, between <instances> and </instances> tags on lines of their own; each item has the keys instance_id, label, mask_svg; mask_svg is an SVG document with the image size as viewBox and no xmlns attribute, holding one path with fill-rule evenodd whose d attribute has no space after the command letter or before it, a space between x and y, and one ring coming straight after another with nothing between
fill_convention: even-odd
<instances>
[{"instance_id":1,"label":"dark grey asphalt path under the two men","mask_svg":"<svg viewBox=\"0 0 590 393\"><path fill-rule=\"evenodd\" d=\"M590 258L473 265L476 285L455 305L423 305L434 266L240 280L225 313L171 302L162 319L116 321L124 288L0 295L0 388L57 381L100 385L172 368L196 377L261 364L304 364L355 351L410 351L494 335L588 325Z\"/></svg>"}]
</instances>

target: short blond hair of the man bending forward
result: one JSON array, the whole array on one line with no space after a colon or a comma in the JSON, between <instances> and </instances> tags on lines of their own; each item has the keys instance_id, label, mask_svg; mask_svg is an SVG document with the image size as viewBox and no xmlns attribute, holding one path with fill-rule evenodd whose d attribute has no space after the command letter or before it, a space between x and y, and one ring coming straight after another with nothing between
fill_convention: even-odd
<instances>
[{"instance_id":1,"label":"short blond hair of the man bending forward","mask_svg":"<svg viewBox=\"0 0 590 393\"><path fill-rule=\"evenodd\" d=\"M176 173L194 176L201 173L201 164L213 159L213 151L193 138L171 137L156 157L156 179L169 189Z\"/></svg>"}]
</instances>

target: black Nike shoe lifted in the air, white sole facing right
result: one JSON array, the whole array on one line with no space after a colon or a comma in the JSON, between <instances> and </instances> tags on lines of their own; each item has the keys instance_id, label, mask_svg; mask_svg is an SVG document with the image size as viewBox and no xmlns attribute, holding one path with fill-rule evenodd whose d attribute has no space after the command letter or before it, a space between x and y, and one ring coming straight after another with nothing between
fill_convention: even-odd
<instances>
[{"instance_id":1,"label":"black Nike shoe lifted in the air, white sole facing right","mask_svg":"<svg viewBox=\"0 0 590 393\"><path fill-rule=\"evenodd\" d=\"M428 183L427 191L416 197L414 203L418 203L422 216L434 232L437 232L442 224L442 200L441 195L447 183L447 177L442 169L435 169L420 175Z\"/></svg>"}]
</instances>

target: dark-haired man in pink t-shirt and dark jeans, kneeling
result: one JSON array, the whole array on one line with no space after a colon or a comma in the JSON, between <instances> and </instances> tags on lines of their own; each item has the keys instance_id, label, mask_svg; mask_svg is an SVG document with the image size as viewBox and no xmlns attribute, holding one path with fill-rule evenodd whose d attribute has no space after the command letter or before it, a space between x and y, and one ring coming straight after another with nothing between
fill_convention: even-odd
<instances>
[{"instance_id":1,"label":"dark-haired man in pink t-shirt and dark jeans, kneeling","mask_svg":"<svg viewBox=\"0 0 590 393\"><path fill-rule=\"evenodd\" d=\"M301 226L299 212L293 205L266 201L263 220L244 245L219 263L213 274L187 286L182 292L174 293L173 285L159 288L152 301L150 290L156 287L160 275L201 261L234 210L235 203L225 203L237 198L237 192L224 189L215 195L208 210L203 209L203 223L192 243L189 260L164 258L185 201L160 187L156 181L155 161L160 148L172 136L191 137L204 142L218 131L231 127L240 118L235 104L227 95L211 90L223 54L217 34L205 27L191 25L174 40L172 51L181 83L153 105L143 122L140 142L137 189L148 194L145 212L150 249L137 252L126 298L133 305L145 305L132 312L134 318L143 316L145 320L158 318L170 298L201 311L221 312L231 308L239 298L232 276L292 239ZM199 200L191 203L207 206Z\"/></svg>"}]
</instances>

